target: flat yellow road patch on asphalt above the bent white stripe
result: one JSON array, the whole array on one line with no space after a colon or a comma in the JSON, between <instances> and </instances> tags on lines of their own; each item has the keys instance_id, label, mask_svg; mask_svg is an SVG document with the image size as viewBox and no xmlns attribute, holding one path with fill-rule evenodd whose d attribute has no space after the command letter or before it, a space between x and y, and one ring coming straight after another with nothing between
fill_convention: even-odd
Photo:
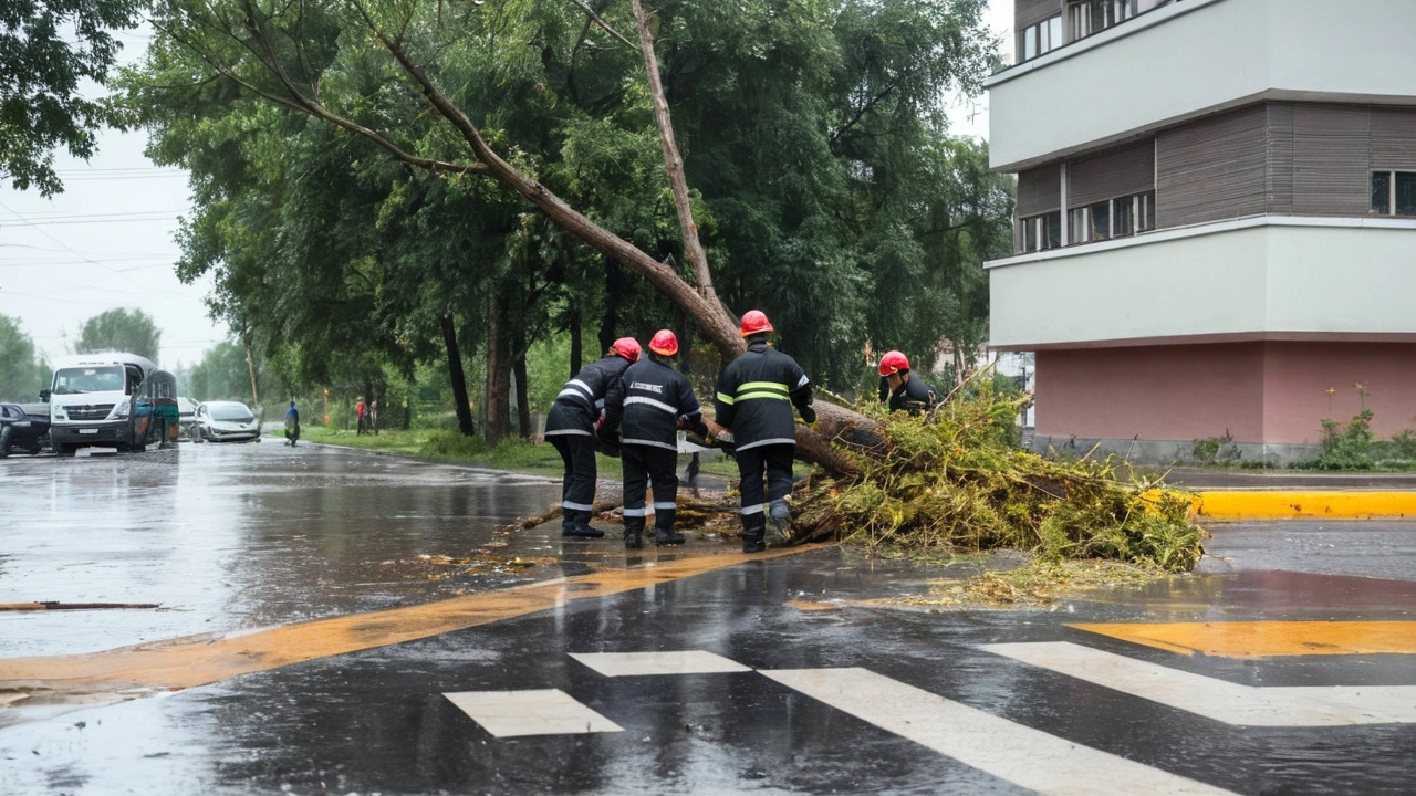
<instances>
[{"instance_id":1,"label":"flat yellow road patch on asphalt above the bent white stripe","mask_svg":"<svg viewBox=\"0 0 1416 796\"><path fill-rule=\"evenodd\" d=\"M1416 654L1416 622L1174 622L1068 625L1181 654Z\"/></svg>"}]
</instances>

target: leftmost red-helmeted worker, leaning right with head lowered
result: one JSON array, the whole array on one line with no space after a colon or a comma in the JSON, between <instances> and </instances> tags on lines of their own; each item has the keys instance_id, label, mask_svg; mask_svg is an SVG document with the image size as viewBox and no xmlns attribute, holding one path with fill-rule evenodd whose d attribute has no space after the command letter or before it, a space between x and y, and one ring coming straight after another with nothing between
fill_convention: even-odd
<instances>
[{"instance_id":1,"label":"leftmost red-helmeted worker, leaning right with head lowered","mask_svg":"<svg viewBox=\"0 0 1416 796\"><path fill-rule=\"evenodd\" d=\"M545 418L545 438L561 453L561 535L599 538L605 531L590 525L595 514L596 436L615 440L619 435L620 374L639 361L639 343L620 337L603 360L581 368L565 382Z\"/></svg>"}]
</instances>

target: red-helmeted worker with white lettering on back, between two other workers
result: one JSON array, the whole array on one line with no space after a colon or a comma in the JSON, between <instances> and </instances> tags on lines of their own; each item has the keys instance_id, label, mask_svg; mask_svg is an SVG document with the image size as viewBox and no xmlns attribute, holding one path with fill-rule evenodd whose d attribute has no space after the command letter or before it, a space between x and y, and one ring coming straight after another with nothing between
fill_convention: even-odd
<instances>
[{"instance_id":1,"label":"red-helmeted worker with white lettering on back, between two other workers","mask_svg":"<svg viewBox=\"0 0 1416 796\"><path fill-rule=\"evenodd\" d=\"M674 533L678 510L678 429L708 436L702 408L688 378L673 368L678 339L667 329L649 341L649 358L620 377L624 415L620 465L624 469L624 548L644 547L646 484L654 489L654 544L684 544ZM609 408L609 399L606 399Z\"/></svg>"}]
</instances>

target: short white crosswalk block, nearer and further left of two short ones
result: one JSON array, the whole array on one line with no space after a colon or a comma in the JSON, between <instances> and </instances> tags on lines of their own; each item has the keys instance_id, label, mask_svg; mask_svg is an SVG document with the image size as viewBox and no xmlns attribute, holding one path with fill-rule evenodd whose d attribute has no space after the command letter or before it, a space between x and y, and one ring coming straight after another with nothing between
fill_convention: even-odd
<instances>
[{"instance_id":1,"label":"short white crosswalk block, nearer and further left of two short ones","mask_svg":"<svg viewBox=\"0 0 1416 796\"><path fill-rule=\"evenodd\" d=\"M450 691L443 695L496 738L624 731L559 688Z\"/></svg>"}]
</instances>

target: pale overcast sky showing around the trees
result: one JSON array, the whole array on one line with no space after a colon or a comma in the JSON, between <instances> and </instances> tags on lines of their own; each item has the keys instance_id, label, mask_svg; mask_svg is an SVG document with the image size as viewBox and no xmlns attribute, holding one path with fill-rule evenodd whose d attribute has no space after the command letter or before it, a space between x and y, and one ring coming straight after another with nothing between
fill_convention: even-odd
<instances>
[{"instance_id":1,"label":"pale overcast sky showing around the trees","mask_svg":"<svg viewBox=\"0 0 1416 796\"><path fill-rule=\"evenodd\" d=\"M1011 31L1011 0L990 0L986 21L995 34ZM146 38L119 35L125 61L140 57ZM950 115L956 133L986 137L986 96L957 99ZM211 280L183 285L173 268L177 220L190 210L185 173L153 166L146 142L143 132L105 132L91 161L58 157L64 193L52 200L0 186L0 314L18 317L51 360L68 353L85 320L115 307L153 316L166 368L194 364L227 339L202 302Z\"/></svg>"}]
</instances>

